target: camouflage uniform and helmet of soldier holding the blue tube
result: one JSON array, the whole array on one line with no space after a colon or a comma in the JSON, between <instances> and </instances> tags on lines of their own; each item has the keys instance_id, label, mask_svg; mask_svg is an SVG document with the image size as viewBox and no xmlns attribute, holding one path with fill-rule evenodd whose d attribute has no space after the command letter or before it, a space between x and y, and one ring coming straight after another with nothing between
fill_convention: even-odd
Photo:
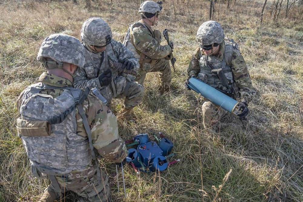
<instances>
[{"instance_id":1,"label":"camouflage uniform and helmet of soldier holding the blue tube","mask_svg":"<svg viewBox=\"0 0 303 202\"><path fill-rule=\"evenodd\" d=\"M247 102L250 102L255 96L256 90L252 86L244 58L238 49L233 48L231 44L225 44L224 41L222 42L224 39L223 30L219 34L211 33L211 31L215 29L211 29L209 24L213 25L213 22L214 21L208 21L207 25L203 26L206 23L205 22L200 26L197 32L197 39L199 42L199 33L203 31L202 33L208 33L208 35L205 34L206 36L201 37L200 44L209 45L214 43L213 41L215 41L215 43L216 41L221 41L219 42L220 49L218 55L206 56L201 47L196 48L187 69L188 76L197 77L204 83L207 83L221 92L225 92L227 88L223 86L219 77L211 72L211 68L207 64L209 62L213 69L222 68L228 85L233 89L233 96L236 99L245 99ZM218 37L216 38L218 35L221 35L220 39L218 39ZM209 129L218 125L219 120L225 116L226 113L227 112L224 109L209 100L205 100L202 105L204 128Z\"/></svg>"}]
</instances>

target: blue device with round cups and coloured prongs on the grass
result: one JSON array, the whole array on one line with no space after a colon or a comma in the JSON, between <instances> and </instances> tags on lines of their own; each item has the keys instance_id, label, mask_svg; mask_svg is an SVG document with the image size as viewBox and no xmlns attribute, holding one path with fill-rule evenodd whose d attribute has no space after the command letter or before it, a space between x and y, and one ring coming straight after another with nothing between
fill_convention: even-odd
<instances>
[{"instance_id":1,"label":"blue device with round cups and coloured prongs on the grass","mask_svg":"<svg viewBox=\"0 0 303 202\"><path fill-rule=\"evenodd\" d=\"M164 171L168 168L168 165L180 161L168 161L169 158L175 156L174 153L171 153L174 144L163 135L161 135L161 139L159 139L157 135L154 136L158 144L155 141L149 141L147 134L139 134L126 141L127 143L132 141L139 143L138 146L134 143L128 144L130 146L136 146L136 148L128 149L128 156L126 157L127 162L133 163L132 167L136 173L138 173L138 170L144 172Z\"/></svg>"}]
</instances>

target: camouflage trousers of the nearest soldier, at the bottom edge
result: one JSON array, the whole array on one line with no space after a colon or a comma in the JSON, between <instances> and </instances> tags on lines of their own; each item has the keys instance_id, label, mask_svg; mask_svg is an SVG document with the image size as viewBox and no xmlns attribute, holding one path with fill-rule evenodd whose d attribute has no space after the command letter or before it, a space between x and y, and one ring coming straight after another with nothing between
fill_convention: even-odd
<instances>
[{"instance_id":1,"label":"camouflage trousers of the nearest soldier, at the bottom edge","mask_svg":"<svg viewBox=\"0 0 303 202\"><path fill-rule=\"evenodd\" d=\"M68 173L61 177L56 176L56 180L61 186L62 191L56 190L53 182L50 184L50 186L48 186L47 189L48 191L56 193L57 199L63 199L64 191L69 190L74 191L76 194L82 197L80 200L78 200L79 202L110 202L108 176L102 172L102 170L101 178L100 183L98 181L96 168L91 166L89 169L84 171Z\"/></svg>"}]
</instances>

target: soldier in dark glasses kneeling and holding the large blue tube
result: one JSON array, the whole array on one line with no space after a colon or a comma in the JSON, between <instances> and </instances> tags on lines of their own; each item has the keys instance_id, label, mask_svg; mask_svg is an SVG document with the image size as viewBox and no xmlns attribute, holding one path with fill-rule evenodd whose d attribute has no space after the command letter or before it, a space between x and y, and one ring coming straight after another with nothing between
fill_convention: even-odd
<instances>
[{"instance_id":1,"label":"soldier in dark glasses kneeling and holding the large blue tube","mask_svg":"<svg viewBox=\"0 0 303 202\"><path fill-rule=\"evenodd\" d=\"M225 43L221 25L216 21L204 22L197 31L199 47L192 55L187 69L188 77L196 77L222 93L239 99L238 118L248 114L248 103L256 94L245 61L233 40ZM188 83L188 79L186 80ZM187 87L185 83L185 86ZM205 100L202 105L205 129L214 129L226 111Z\"/></svg>"}]
</instances>

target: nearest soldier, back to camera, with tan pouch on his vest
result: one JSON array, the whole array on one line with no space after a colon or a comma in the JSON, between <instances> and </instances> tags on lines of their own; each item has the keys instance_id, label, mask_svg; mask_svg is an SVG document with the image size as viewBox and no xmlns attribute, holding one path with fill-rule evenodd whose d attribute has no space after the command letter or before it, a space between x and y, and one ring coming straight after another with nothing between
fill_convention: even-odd
<instances>
[{"instance_id":1,"label":"nearest soldier, back to camera, with tan pouch on his vest","mask_svg":"<svg viewBox=\"0 0 303 202\"><path fill-rule=\"evenodd\" d=\"M85 64L84 47L66 34L45 38L37 60L47 72L19 96L17 132L32 173L48 178L40 202L71 190L80 201L110 201L108 176L96 155L114 162L127 156L114 114L96 96L72 87L75 70Z\"/></svg>"}]
</instances>

